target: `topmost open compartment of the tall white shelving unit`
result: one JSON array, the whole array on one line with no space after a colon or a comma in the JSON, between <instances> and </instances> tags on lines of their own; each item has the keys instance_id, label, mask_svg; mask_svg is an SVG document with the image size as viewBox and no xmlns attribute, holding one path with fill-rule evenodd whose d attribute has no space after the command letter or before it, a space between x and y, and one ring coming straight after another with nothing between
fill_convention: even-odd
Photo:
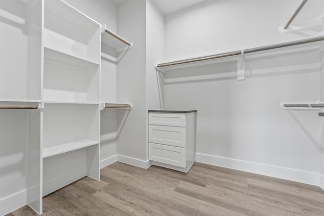
<instances>
[{"instance_id":1,"label":"topmost open compartment of the tall white shelving unit","mask_svg":"<svg viewBox=\"0 0 324 216\"><path fill-rule=\"evenodd\" d=\"M100 24L63 1L45 1L44 45L100 62Z\"/></svg>"}]
</instances>

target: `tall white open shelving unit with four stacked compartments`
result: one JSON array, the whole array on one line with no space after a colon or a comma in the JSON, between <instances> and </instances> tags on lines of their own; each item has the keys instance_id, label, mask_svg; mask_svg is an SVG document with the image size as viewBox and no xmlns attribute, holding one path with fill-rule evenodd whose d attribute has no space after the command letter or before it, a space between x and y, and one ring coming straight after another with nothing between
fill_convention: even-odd
<instances>
[{"instance_id":1,"label":"tall white open shelving unit with four stacked compartments","mask_svg":"<svg viewBox=\"0 0 324 216\"><path fill-rule=\"evenodd\" d=\"M44 8L43 196L84 176L100 180L101 33L63 1Z\"/></svg>"}]
</instances>

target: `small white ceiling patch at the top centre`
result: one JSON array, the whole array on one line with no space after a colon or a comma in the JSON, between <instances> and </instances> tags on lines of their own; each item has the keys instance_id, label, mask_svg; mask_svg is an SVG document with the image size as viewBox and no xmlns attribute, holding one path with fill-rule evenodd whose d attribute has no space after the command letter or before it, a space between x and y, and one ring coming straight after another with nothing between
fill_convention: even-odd
<instances>
[{"instance_id":1,"label":"small white ceiling patch at the top centre","mask_svg":"<svg viewBox=\"0 0 324 216\"><path fill-rule=\"evenodd\" d=\"M164 15L180 11L206 0L153 0Z\"/></svg>"}]
</instances>

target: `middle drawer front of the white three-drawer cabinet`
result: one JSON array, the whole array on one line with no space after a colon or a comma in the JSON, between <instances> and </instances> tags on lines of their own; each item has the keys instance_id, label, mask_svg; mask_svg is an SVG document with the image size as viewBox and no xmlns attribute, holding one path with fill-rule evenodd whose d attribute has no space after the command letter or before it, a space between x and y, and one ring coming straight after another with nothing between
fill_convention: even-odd
<instances>
[{"instance_id":1,"label":"middle drawer front of the white three-drawer cabinet","mask_svg":"<svg viewBox=\"0 0 324 216\"><path fill-rule=\"evenodd\" d=\"M185 128L148 125L148 142L185 147Z\"/></svg>"}]
</instances>

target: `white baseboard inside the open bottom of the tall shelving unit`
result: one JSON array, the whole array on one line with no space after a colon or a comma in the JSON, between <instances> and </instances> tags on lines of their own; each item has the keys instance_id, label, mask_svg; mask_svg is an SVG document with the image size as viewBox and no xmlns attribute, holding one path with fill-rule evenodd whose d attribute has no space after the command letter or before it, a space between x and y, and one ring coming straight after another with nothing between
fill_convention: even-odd
<instances>
[{"instance_id":1,"label":"white baseboard inside the open bottom of the tall shelving unit","mask_svg":"<svg viewBox=\"0 0 324 216\"><path fill-rule=\"evenodd\" d=\"M43 184L43 196L46 196L53 191L56 191L76 180L79 180L83 177L87 176L87 168L83 167L78 170L72 171L69 174L61 176L57 179L51 180L50 182Z\"/></svg>"}]
</instances>

